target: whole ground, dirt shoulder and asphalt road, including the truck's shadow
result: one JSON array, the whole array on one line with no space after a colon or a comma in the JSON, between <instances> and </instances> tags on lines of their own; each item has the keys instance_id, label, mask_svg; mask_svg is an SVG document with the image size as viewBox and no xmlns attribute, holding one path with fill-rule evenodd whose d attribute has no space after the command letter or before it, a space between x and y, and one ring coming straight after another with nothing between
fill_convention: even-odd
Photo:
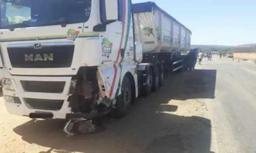
<instances>
[{"instance_id":1,"label":"whole ground, dirt shoulder and asphalt road, including the truck's shadow","mask_svg":"<svg viewBox=\"0 0 256 153\"><path fill-rule=\"evenodd\" d=\"M106 117L92 135L67 137L65 121L10 115L0 98L0 152L256 152L256 65L214 56L196 69L167 74L129 116Z\"/></svg>"}]
</instances>

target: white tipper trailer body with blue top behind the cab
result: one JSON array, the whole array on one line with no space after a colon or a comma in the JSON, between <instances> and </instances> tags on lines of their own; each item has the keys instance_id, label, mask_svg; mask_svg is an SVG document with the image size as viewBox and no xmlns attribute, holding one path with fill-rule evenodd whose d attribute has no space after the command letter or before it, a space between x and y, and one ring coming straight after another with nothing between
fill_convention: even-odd
<instances>
[{"instance_id":1,"label":"white tipper trailer body with blue top behind the cab","mask_svg":"<svg viewBox=\"0 0 256 153\"><path fill-rule=\"evenodd\" d=\"M154 2L133 4L135 40L143 53L185 52L191 31Z\"/></svg>"}]
</instances>

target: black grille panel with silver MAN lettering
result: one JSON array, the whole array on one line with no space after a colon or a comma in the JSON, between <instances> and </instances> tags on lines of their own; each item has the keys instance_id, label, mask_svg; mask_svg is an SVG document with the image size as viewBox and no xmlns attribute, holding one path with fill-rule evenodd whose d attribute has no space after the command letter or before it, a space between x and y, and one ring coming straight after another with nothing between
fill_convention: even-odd
<instances>
[{"instance_id":1,"label":"black grille panel with silver MAN lettering","mask_svg":"<svg viewBox=\"0 0 256 153\"><path fill-rule=\"evenodd\" d=\"M70 68L74 48L73 42L44 42L8 45L7 51L13 68Z\"/></svg>"}]
</instances>

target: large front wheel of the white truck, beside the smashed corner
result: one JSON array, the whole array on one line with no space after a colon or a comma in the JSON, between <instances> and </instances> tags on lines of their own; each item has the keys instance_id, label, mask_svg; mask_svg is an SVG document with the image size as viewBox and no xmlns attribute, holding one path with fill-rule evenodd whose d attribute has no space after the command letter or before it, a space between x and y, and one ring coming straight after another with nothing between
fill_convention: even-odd
<instances>
[{"instance_id":1,"label":"large front wheel of the white truck, beside the smashed corner","mask_svg":"<svg viewBox=\"0 0 256 153\"><path fill-rule=\"evenodd\" d=\"M115 117L121 118L129 114L132 104L132 88L130 79L123 77L121 84L121 95L116 98L116 104L113 113Z\"/></svg>"}]
</instances>

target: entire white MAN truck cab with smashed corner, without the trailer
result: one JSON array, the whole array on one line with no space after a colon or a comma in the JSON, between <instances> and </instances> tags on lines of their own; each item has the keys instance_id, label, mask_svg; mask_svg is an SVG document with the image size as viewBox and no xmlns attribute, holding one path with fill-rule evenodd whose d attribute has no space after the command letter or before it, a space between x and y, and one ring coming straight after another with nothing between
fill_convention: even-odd
<instances>
[{"instance_id":1,"label":"entire white MAN truck cab with smashed corner, without the trailer","mask_svg":"<svg viewBox=\"0 0 256 153\"><path fill-rule=\"evenodd\" d=\"M11 114L67 119L108 112L96 107L116 101L125 75L138 96L142 47L133 39L131 1L2 0L1 6L3 92Z\"/></svg>"}]
</instances>

